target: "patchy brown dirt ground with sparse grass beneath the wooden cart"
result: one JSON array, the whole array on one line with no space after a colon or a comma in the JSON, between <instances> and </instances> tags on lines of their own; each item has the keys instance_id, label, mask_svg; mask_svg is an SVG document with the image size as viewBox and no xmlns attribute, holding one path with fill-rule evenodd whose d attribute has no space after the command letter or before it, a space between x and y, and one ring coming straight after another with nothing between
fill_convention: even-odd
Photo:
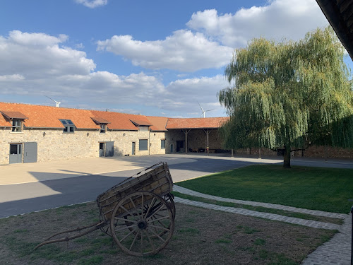
<instances>
[{"instance_id":1,"label":"patchy brown dirt ground with sparse grass beneath the wooden cart","mask_svg":"<svg viewBox=\"0 0 353 265\"><path fill-rule=\"evenodd\" d=\"M177 204L169 245L153 257L128 256L100 230L32 248L54 232L98 220L95 203L0 220L0 264L300 264L332 230L306 228Z\"/></svg>"}]
</instances>

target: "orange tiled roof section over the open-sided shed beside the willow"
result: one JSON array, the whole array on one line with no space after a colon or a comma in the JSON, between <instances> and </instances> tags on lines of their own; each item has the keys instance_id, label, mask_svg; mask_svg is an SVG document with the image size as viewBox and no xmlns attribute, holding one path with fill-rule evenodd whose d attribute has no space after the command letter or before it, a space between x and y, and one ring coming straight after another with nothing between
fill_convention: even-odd
<instances>
[{"instance_id":1,"label":"orange tiled roof section over the open-sided shed beside the willow","mask_svg":"<svg viewBox=\"0 0 353 265\"><path fill-rule=\"evenodd\" d=\"M168 119L167 129L213 129L220 128L229 117L217 118L171 118Z\"/></svg>"}]
</instances>

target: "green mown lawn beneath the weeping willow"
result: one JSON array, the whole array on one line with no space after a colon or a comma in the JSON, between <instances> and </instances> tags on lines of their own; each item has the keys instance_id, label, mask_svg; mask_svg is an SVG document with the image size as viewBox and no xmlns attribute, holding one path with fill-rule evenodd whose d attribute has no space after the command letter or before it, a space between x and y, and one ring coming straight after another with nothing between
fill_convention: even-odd
<instances>
[{"instance_id":1,"label":"green mown lawn beneath the weeping willow","mask_svg":"<svg viewBox=\"0 0 353 265\"><path fill-rule=\"evenodd\" d=\"M251 165L199 177L177 185L196 192L246 201L349 213L353 170L323 167Z\"/></svg>"}]
</instances>

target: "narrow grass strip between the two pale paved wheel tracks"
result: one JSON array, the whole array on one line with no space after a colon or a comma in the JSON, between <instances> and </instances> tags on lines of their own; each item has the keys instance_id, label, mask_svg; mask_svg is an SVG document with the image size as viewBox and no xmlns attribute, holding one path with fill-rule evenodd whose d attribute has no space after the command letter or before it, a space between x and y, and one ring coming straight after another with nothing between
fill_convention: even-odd
<instances>
[{"instance_id":1,"label":"narrow grass strip between the two pale paved wheel tracks","mask_svg":"<svg viewBox=\"0 0 353 265\"><path fill-rule=\"evenodd\" d=\"M226 207L234 207L234 208L245 208L251 211L259 211L263 213L275 213L279 214L281 216L288 216L288 217L295 217L295 218L301 218L301 219L306 219L306 220L316 220L320 222L325 222L325 223L335 223L337 225L342 225L343 220L339 218L330 218L330 217L325 217L325 216L313 216L311 214L307 213L294 213L291 211L284 211L284 210L278 210L274 208L265 208L262 206L251 206L251 205L246 205L246 204L234 204L232 202L227 202L227 201L215 201L211 199L205 199L197 196L192 196L189 194L182 194L180 192L172 192L174 196L183 198L183 199L189 199L191 201L201 201L206 204L216 204L219 206L226 206Z\"/></svg>"}]
</instances>

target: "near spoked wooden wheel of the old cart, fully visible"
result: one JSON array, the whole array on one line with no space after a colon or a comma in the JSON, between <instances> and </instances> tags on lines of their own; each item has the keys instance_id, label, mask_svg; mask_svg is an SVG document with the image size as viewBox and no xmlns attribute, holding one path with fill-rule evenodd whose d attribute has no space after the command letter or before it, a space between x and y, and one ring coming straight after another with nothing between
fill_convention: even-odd
<instances>
[{"instance_id":1,"label":"near spoked wooden wheel of the old cart, fully visible","mask_svg":"<svg viewBox=\"0 0 353 265\"><path fill-rule=\"evenodd\" d=\"M172 237L173 212L161 196L134 192L114 207L110 231L124 252L134 256L156 254Z\"/></svg>"}]
</instances>

